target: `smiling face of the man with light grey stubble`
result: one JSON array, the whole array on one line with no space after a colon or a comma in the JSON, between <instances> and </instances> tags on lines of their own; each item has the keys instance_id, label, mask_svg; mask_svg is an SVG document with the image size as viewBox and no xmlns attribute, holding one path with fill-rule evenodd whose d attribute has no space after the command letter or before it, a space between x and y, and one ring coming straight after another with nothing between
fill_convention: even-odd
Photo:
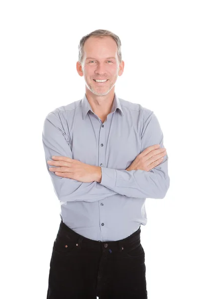
<instances>
[{"instance_id":1,"label":"smiling face of the man with light grey stubble","mask_svg":"<svg viewBox=\"0 0 199 299\"><path fill-rule=\"evenodd\" d=\"M119 70L117 44L112 37L90 37L86 40L82 71L86 86L92 93L97 96L108 94L115 85ZM107 81L98 83L94 79Z\"/></svg>"}]
</instances>

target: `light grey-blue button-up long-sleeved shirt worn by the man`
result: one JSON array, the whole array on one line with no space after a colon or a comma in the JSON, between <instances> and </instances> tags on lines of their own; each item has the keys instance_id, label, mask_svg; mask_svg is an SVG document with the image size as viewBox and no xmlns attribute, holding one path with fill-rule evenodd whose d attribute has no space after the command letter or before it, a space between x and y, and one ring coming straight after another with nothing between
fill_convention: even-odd
<instances>
[{"instance_id":1,"label":"light grey-blue button-up long-sleeved shirt worn by the man","mask_svg":"<svg viewBox=\"0 0 199 299\"><path fill-rule=\"evenodd\" d=\"M125 170L144 149L163 144L153 111L114 94L104 123L83 99L50 112L43 125L46 167L60 201L60 217L78 234L97 241L121 240L146 225L146 198L165 197L168 155L150 171ZM101 182L84 183L49 170L53 155L101 167Z\"/></svg>"}]
</instances>

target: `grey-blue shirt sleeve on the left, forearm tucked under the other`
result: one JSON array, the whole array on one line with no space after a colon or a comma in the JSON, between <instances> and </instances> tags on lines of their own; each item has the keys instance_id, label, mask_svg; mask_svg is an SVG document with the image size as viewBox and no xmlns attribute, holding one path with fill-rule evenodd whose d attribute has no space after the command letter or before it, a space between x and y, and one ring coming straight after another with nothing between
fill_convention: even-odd
<instances>
[{"instance_id":1,"label":"grey-blue shirt sleeve on the left, forearm tucked under the other","mask_svg":"<svg viewBox=\"0 0 199 299\"><path fill-rule=\"evenodd\" d=\"M49 167L48 160L53 155L73 158L67 134L64 131L58 112L50 112L43 124L42 143L45 152L46 167L53 183L56 196L60 201L88 201L94 202L116 194L113 190L100 185L99 182L89 183L56 175Z\"/></svg>"}]
</instances>

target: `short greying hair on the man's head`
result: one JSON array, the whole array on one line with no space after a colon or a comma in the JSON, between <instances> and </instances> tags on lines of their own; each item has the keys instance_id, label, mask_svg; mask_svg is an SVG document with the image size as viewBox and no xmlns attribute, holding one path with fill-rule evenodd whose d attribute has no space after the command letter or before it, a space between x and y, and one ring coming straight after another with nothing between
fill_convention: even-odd
<instances>
[{"instance_id":1,"label":"short greying hair on the man's head","mask_svg":"<svg viewBox=\"0 0 199 299\"><path fill-rule=\"evenodd\" d=\"M116 34L114 34L113 32L111 32L109 30L98 29L98 30L92 31L91 33L83 36L80 40L80 43L78 45L78 49L79 49L78 61L81 64L83 62L83 57L84 57L84 44L85 44L85 41L91 36L100 37L100 38L103 38L103 36L111 36L116 41L118 61L119 61L119 64L121 63L121 61L122 61L122 57L121 57L121 40L120 40L119 36L117 36Z\"/></svg>"}]
</instances>

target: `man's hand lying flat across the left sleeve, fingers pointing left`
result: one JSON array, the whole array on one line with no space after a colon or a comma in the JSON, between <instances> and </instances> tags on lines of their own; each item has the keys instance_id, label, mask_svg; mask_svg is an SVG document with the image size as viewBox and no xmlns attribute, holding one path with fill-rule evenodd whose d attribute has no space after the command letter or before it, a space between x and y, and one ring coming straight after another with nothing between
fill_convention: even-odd
<instances>
[{"instance_id":1,"label":"man's hand lying flat across the left sleeve, fingers pointing left","mask_svg":"<svg viewBox=\"0 0 199 299\"><path fill-rule=\"evenodd\" d=\"M72 178L84 183L101 181L100 166L93 166L65 156L54 156L52 159L47 163L59 167L49 168L49 170L56 171L55 174L58 176Z\"/></svg>"}]
</instances>

